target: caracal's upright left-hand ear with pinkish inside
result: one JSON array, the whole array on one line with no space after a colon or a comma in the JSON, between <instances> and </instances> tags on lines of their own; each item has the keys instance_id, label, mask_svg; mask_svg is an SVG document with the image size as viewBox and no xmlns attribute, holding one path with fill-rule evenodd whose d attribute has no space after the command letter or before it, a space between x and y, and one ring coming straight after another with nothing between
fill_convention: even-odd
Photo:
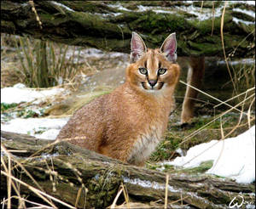
<instances>
[{"instance_id":1,"label":"caracal's upright left-hand ear with pinkish inside","mask_svg":"<svg viewBox=\"0 0 256 209\"><path fill-rule=\"evenodd\" d=\"M147 47L143 42L143 38L136 32L132 32L131 37L131 62L137 62L144 53L147 52Z\"/></svg>"}]
</instances>

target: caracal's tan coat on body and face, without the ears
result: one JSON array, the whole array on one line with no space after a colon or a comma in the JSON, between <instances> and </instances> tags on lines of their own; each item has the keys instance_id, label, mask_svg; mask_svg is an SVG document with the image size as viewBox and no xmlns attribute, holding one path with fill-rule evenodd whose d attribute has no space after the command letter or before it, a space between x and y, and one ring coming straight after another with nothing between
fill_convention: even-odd
<instances>
[{"instance_id":1,"label":"caracal's tan coat on body and face, without the ears","mask_svg":"<svg viewBox=\"0 0 256 209\"><path fill-rule=\"evenodd\" d=\"M159 65L167 69L166 74L159 76L150 90L146 76L138 68L147 67L148 78L156 79ZM179 71L179 65L169 62L159 49L148 48L127 67L125 83L75 112L57 139L84 137L70 142L120 161L143 165L166 131Z\"/></svg>"}]
</instances>

